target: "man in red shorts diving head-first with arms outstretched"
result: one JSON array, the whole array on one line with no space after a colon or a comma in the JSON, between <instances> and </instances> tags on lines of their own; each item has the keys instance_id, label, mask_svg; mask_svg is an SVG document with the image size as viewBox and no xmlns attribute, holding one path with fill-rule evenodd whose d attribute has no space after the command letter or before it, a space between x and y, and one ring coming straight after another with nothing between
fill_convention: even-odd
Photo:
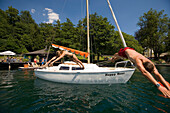
<instances>
[{"instance_id":1,"label":"man in red shorts diving head-first with arms outstretched","mask_svg":"<svg viewBox=\"0 0 170 113\"><path fill-rule=\"evenodd\" d=\"M135 66L141 71L141 73L149 81L151 81L157 87L157 89L163 93L165 97L170 98L169 83L165 81L163 76L158 72L152 61L130 47L121 48L119 52L115 53L110 60L115 62L120 58L127 58L133 62ZM160 83L152 76L151 73L153 73L156 79L159 80L160 83L162 83L165 87L160 85Z\"/></svg>"}]
</instances>

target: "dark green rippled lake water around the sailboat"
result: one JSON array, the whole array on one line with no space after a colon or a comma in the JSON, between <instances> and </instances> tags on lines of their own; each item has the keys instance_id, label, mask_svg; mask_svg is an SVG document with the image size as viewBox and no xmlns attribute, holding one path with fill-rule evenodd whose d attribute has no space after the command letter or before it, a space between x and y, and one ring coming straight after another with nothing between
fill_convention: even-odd
<instances>
[{"instance_id":1,"label":"dark green rippled lake water around the sailboat","mask_svg":"<svg viewBox=\"0 0 170 113\"><path fill-rule=\"evenodd\" d=\"M158 67L170 82L170 67ZM140 72L126 84L73 85L35 77L33 71L0 70L0 113L170 113L170 99Z\"/></svg>"}]
</instances>

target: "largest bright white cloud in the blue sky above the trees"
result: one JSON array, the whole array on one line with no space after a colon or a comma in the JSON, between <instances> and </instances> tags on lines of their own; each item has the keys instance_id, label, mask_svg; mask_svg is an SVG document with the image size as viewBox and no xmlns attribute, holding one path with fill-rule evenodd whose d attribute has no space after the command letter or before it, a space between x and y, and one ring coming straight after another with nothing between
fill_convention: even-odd
<instances>
[{"instance_id":1,"label":"largest bright white cloud in the blue sky above the trees","mask_svg":"<svg viewBox=\"0 0 170 113\"><path fill-rule=\"evenodd\" d=\"M48 11L48 14L47 14L48 15L48 21L46 23L53 23L55 20L56 21L60 20L59 19L59 14L54 13L52 9L45 8L45 10ZM43 14L43 16L45 16L45 15Z\"/></svg>"}]
</instances>

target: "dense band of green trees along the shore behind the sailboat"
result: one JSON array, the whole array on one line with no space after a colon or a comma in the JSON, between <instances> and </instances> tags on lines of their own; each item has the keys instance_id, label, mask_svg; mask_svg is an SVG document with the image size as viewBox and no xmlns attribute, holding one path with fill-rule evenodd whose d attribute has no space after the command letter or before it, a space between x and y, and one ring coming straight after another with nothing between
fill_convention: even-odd
<instances>
[{"instance_id":1,"label":"dense band of green trees along the shore behind the sailboat","mask_svg":"<svg viewBox=\"0 0 170 113\"><path fill-rule=\"evenodd\" d=\"M90 48L95 56L112 55L123 47L118 31L106 17L90 14ZM86 17L74 25L69 18L64 23L37 24L29 11L19 12L12 6L0 9L0 51L17 54L44 49L52 43L87 51ZM123 32L129 47L143 53L150 48L156 58L170 51L170 18L164 11L150 9L139 17L134 36Z\"/></svg>"}]
</instances>

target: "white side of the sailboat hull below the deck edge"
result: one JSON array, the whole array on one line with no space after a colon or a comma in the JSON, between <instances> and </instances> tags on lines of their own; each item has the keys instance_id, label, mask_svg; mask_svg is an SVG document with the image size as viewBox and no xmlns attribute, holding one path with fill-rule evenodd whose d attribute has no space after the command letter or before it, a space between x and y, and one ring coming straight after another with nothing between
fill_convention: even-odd
<instances>
[{"instance_id":1,"label":"white side of the sailboat hull below the deck edge","mask_svg":"<svg viewBox=\"0 0 170 113\"><path fill-rule=\"evenodd\" d=\"M103 73L60 73L35 71L38 78L61 83L75 84L112 84L126 83L132 76L134 70L114 71ZM122 74L121 74L122 73ZM120 75L121 74L121 75Z\"/></svg>"}]
</instances>

